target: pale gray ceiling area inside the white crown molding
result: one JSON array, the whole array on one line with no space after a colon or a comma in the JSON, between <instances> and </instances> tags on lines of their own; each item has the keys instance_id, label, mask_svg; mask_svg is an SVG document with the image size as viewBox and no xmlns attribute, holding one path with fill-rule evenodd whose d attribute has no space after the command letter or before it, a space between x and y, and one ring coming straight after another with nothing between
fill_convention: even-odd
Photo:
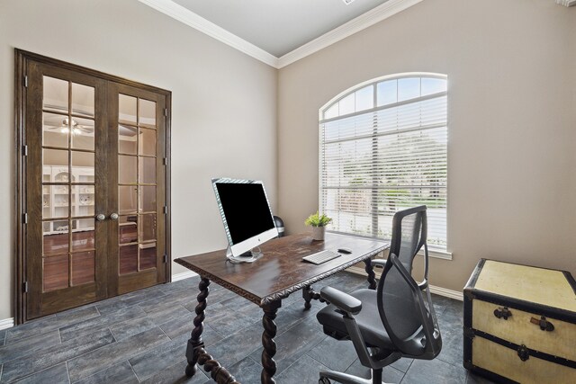
<instances>
[{"instance_id":1,"label":"pale gray ceiling area inside the white crown molding","mask_svg":"<svg viewBox=\"0 0 576 384\"><path fill-rule=\"evenodd\" d=\"M174 0L280 58L387 0Z\"/></svg>"}]
</instances>

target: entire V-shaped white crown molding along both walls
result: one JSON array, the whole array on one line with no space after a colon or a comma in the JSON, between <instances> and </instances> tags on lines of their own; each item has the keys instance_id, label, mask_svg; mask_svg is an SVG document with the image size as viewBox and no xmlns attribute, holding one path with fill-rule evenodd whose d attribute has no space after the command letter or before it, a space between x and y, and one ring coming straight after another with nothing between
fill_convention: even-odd
<instances>
[{"instance_id":1,"label":"entire V-shaped white crown molding along both walls","mask_svg":"<svg viewBox=\"0 0 576 384\"><path fill-rule=\"evenodd\" d=\"M300 48L294 49L292 52L285 54L281 58L276 58L274 55L266 52L266 50L260 49L247 40L239 38L235 34L226 31L213 22L209 22L198 14L184 8L184 6L176 4L172 0L138 1L156 9L158 12L172 17L178 22L184 22L184 24L193 29L201 31L211 38L219 40L234 49L238 49L240 52L243 52L252 58L257 58L271 67L280 69L300 60L301 58L310 56L312 53L318 52L320 49L325 49L339 40L346 39L348 36L351 36L358 31L365 30L376 22L382 22L394 14L410 8L412 5L419 4L423 0L388 0L386 3L378 5L374 9L361 14L356 17L356 19L353 19L346 24L342 24L332 31L324 33L319 38L311 40Z\"/></svg>"}]
</instances>

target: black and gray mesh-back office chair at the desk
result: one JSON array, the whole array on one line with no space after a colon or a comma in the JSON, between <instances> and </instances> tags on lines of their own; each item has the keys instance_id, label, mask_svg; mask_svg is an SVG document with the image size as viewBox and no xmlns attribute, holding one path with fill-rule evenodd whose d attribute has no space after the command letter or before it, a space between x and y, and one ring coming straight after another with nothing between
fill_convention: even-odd
<instances>
[{"instance_id":1,"label":"black and gray mesh-back office chair at the desk","mask_svg":"<svg viewBox=\"0 0 576 384\"><path fill-rule=\"evenodd\" d=\"M418 283L411 276L412 261L422 246L424 280ZM371 369L372 380L320 371L320 384L329 384L330 379L343 384L381 384L383 367L401 357L432 360L440 353L442 338L428 288L425 205L396 212L388 259L373 264L383 266L377 290L347 294L324 287L320 296L330 305L317 315L326 335L352 340L360 362Z\"/></svg>"}]
</instances>

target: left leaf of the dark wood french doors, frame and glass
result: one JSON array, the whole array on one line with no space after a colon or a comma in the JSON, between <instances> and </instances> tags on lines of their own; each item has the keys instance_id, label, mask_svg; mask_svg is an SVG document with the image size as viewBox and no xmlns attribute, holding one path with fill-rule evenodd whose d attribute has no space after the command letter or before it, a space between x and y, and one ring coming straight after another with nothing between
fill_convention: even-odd
<instances>
[{"instance_id":1,"label":"left leaf of the dark wood french doors, frame and glass","mask_svg":"<svg viewBox=\"0 0 576 384\"><path fill-rule=\"evenodd\" d=\"M27 319L103 299L107 279L107 239L94 219L104 200L95 177L103 81L44 63L29 64L28 76Z\"/></svg>"}]
</instances>

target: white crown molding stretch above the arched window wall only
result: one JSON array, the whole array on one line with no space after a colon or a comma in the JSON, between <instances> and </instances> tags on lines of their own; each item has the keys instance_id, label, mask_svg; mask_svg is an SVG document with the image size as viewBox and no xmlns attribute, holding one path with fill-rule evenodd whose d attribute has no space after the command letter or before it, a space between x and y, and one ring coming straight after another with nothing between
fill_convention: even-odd
<instances>
[{"instance_id":1,"label":"white crown molding stretch above the arched window wall only","mask_svg":"<svg viewBox=\"0 0 576 384\"><path fill-rule=\"evenodd\" d=\"M302 47L285 54L278 59L278 68L286 67L301 58L310 56L320 49L325 49L340 40L346 39L348 36L352 36L356 32L365 30L376 22L382 22L394 14L401 13L405 9L410 8L410 6L419 4L422 1L423 0L388 0L386 3L361 14L356 17L356 19L352 19L346 24L342 24L338 28L324 33L319 38L302 45Z\"/></svg>"}]
</instances>

